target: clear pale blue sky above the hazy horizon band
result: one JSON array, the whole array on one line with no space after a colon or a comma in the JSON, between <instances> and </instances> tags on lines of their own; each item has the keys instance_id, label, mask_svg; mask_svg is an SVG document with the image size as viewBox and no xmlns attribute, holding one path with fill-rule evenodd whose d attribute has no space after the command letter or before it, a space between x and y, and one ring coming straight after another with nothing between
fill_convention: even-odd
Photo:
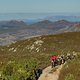
<instances>
[{"instance_id":1,"label":"clear pale blue sky above the hazy horizon band","mask_svg":"<svg viewBox=\"0 0 80 80\"><path fill-rule=\"evenodd\" d=\"M0 13L80 13L80 0L0 0Z\"/></svg>"}]
</instances>

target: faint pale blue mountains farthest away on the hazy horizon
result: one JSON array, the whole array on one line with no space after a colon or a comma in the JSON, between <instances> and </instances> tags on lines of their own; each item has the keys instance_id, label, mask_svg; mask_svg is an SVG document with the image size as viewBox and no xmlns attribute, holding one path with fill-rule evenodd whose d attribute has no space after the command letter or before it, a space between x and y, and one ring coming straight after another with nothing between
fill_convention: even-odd
<instances>
[{"instance_id":1,"label":"faint pale blue mountains farthest away on the hazy horizon","mask_svg":"<svg viewBox=\"0 0 80 80\"><path fill-rule=\"evenodd\" d=\"M70 22L80 22L80 16L47 16L44 18L35 18L35 19L24 19L23 21L27 24L34 24L43 20L49 20L52 22L59 21L59 20L67 20Z\"/></svg>"}]
</instances>

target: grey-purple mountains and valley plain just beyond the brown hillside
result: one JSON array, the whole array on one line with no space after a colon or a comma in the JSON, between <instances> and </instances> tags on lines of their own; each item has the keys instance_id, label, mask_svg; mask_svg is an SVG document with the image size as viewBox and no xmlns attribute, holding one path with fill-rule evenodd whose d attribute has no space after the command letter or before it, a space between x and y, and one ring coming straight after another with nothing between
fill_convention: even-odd
<instances>
[{"instance_id":1,"label":"grey-purple mountains and valley plain just beyond the brown hillside","mask_svg":"<svg viewBox=\"0 0 80 80\"><path fill-rule=\"evenodd\" d=\"M30 37L80 31L80 22L43 20L33 24L24 21L0 21L0 45L14 43Z\"/></svg>"}]
</instances>

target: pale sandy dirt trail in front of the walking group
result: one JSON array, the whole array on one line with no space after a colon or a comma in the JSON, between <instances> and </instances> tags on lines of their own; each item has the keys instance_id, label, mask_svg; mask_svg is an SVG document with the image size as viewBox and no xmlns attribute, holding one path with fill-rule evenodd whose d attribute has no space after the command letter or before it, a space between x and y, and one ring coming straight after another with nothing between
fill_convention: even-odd
<instances>
[{"instance_id":1,"label":"pale sandy dirt trail in front of the walking group","mask_svg":"<svg viewBox=\"0 0 80 80\"><path fill-rule=\"evenodd\" d=\"M62 67L63 65L57 66L56 69L54 69L55 71L51 69L51 66L47 67L43 70L38 80L58 80Z\"/></svg>"}]
</instances>

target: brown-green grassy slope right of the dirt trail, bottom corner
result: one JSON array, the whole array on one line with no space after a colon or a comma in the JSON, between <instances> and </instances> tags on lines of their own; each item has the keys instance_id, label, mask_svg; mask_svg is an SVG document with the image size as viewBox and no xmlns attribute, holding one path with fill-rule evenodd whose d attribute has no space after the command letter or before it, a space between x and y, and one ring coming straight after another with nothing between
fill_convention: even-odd
<instances>
[{"instance_id":1,"label":"brown-green grassy slope right of the dirt trail, bottom corner","mask_svg":"<svg viewBox=\"0 0 80 80\"><path fill-rule=\"evenodd\" d=\"M80 56L63 67L59 80L80 80Z\"/></svg>"}]
</instances>

